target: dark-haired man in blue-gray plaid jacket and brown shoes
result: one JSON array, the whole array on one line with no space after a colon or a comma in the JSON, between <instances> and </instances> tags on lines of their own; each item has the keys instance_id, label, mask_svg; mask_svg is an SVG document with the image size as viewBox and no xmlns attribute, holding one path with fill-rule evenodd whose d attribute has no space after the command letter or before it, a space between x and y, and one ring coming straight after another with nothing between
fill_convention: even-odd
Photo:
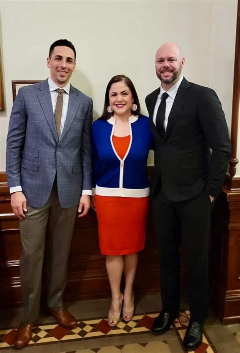
<instances>
[{"instance_id":1,"label":"dark-haired man in blue-gray plaid jacket and brown shoes","mask_svg":"<svg viewBox=\"0 0 240 353\"><path fill-rule=\"evenodd\" d=\"M62 296L76 213L83 217L90 207L93 104L69 83L75 59L71 42L54 42L47 59L50 77L20 88L10 117L6 169L22 241L17 348L30 341L39 315L47 225L47 303L60 325L77 324L63 308Z\"/></svg>"}]
</instances>

